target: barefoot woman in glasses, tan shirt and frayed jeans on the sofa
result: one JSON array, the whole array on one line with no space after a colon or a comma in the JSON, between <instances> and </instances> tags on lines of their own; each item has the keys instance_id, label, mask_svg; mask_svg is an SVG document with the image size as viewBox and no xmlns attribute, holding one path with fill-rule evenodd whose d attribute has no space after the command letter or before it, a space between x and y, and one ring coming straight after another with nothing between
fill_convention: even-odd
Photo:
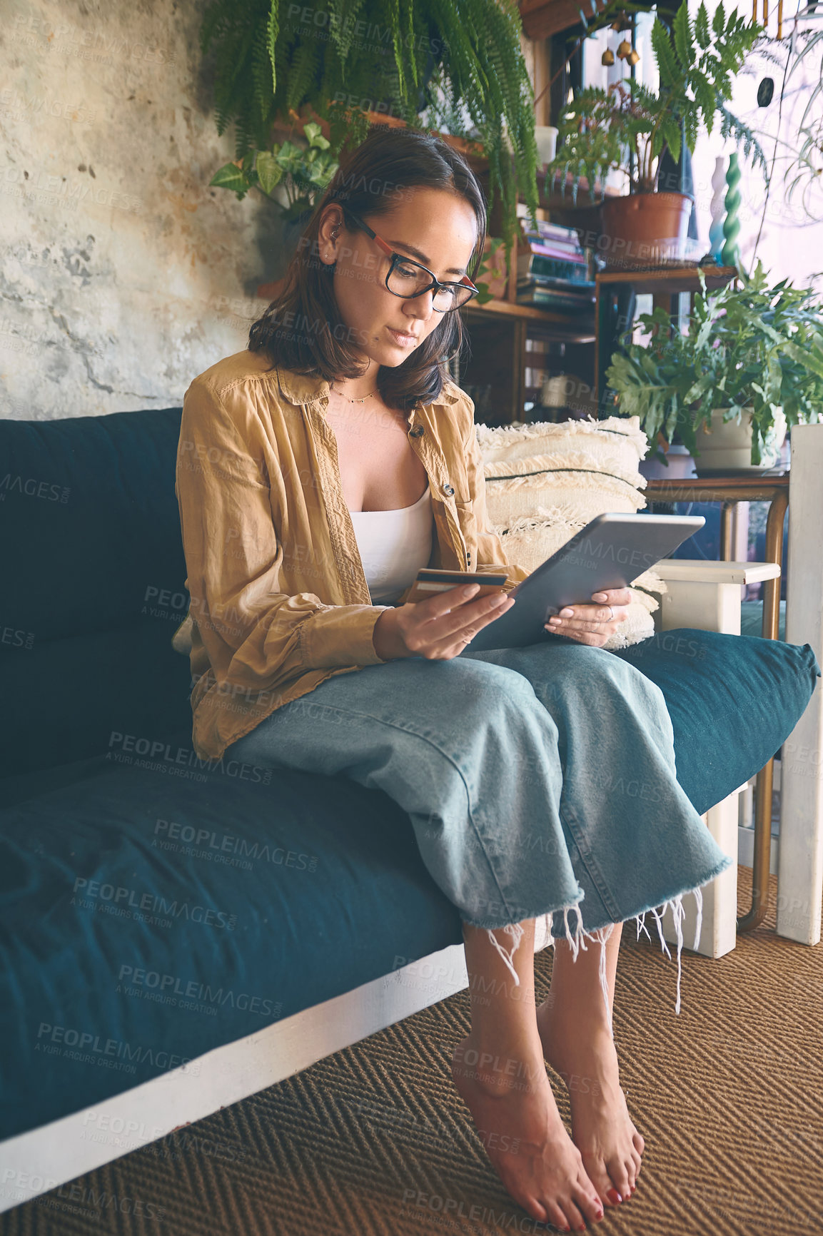
<instances>
[{"instance_id":1,"label":"barefoot woman in glasses, tan shirt and frayed jeans on the sofa","mask_svg":"<svg viewBox=\"0 0 823 1236\"><path fill-rule=\"evenodd\" d=\"M729 860L677 782L662 692L603 649L627 590L563 611L560 638L473 655L512 598L404 603L420 566L505 564L473 405L446 370L484 230L446 143L372 132L248 349L187 391L193 737L201 756L345 775L408 812L463 921L457 1090L512 1196L583 1230L631 1195L644 1148L612 1036L622 923L677 908ZM528 571L507 566L508 591ZM555 957L535 1007L539 916ZM572 1138L545 1060L567 1079Z\"/></svg>"}]
</instances>

